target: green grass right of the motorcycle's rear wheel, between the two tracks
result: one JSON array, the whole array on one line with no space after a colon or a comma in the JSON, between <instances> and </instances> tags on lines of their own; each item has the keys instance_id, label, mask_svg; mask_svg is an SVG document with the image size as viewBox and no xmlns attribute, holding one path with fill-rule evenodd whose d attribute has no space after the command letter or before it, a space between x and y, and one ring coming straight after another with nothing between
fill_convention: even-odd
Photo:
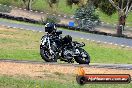
<instances>
[{"instance_id":1,"label":"green grass right of the motorcycle's rear wheel, between the two tracks","mask_svg":"<svg viewBox=\"0 0 132 88\"><path fill-rule=\"evenodd\" d=\"M91 62L95 63L132 63L132 50L119 47L109 47L96 43L86 43L85 49L91 56Z\"/></svg>"}]
</instances>

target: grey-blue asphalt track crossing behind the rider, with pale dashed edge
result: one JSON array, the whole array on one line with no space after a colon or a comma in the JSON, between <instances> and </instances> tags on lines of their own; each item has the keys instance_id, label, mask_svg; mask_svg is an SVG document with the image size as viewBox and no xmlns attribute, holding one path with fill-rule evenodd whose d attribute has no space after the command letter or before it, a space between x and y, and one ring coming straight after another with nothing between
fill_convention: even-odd
<instances>
[{"instance_id":1,"label":"grey-blue asphalt track crossing behind the rider, with pale dashed edge","mask_svg":"<svg viewBox=\"0 0 132 88\"><path fill-rule=\"evenodd\" d=\"M26 29L26 30L44 32L44 26L20 24L20 23L14 23L11 21L3 21L3 20L0 20L0 25L13 27L13 28L21 28L21 29ZM71 35L74 38L87 39L87 40L103 42L103 43L112 44L112 45L132 47L132 39L90 34L90 33L70 31L70 30L62 30L62 31L63 31L63 35Z\"/></svg>"}]
</instances>

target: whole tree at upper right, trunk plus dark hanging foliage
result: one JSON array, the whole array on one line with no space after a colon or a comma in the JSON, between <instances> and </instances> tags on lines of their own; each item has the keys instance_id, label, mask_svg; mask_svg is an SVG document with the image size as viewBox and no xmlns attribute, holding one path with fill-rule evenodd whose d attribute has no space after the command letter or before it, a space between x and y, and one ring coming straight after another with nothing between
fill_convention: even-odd
<instances>
[{"instance_id":1,"label":"whole tree at upper right, trunk plus dark hanging foliage","mask_svg":"<svg viewBox=\"0 0 132 88\"><path fill-rule=\"evenodd\" d=\"M80 1L82 0L78 0L78 3ZM108 16L118 12L117 35L122 36L122 29L124 30L126 18L128 13L132 10L132 0L87 0L87 2L99 8Z\"/></svg>"}]
</instances>

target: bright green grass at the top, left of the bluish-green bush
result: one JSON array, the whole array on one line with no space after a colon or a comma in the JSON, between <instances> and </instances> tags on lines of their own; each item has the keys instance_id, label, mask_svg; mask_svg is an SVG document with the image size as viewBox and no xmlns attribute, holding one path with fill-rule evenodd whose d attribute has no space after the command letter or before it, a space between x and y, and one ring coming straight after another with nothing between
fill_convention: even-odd
<instances>
[{"instance_id":1,"label":"bright green grass at the top, left of the bluish-green bush","mask_svg":"<svg viewBox=\"0 0 132 88\"><path fill-rule=\"evenodd\" d=\"M75 12L77 6L73 5L72 9L66 5L66 0L60 0L58 7L54 7L54 9L50 8L47 2L44 0L37 0L35 4L33 4L34 10L39 11L52 11L55 13L63 13L67 15L71 15Z\"/></svg>"}]
</instances>

